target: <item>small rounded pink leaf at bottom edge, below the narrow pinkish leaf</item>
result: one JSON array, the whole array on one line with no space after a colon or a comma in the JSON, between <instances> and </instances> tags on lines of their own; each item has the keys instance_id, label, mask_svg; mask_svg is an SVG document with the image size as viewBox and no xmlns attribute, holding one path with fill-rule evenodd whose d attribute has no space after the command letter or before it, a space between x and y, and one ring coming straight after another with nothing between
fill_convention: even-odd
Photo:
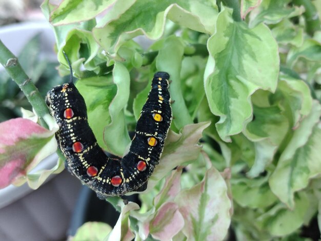
<instances>
[{"instance_id":1,"label":"small rounded pink leaf at bottom edge, below the narrow pinkish leaf","mask_svg":"<svg viewBox=\"0 0 321 241\"><path fill-rule=\"evenodd\" d=\"M149 225L151 235L161 241L172 239L183 227L184 217L173 202L163 204Z\"/></svg>"}]
</instances>

